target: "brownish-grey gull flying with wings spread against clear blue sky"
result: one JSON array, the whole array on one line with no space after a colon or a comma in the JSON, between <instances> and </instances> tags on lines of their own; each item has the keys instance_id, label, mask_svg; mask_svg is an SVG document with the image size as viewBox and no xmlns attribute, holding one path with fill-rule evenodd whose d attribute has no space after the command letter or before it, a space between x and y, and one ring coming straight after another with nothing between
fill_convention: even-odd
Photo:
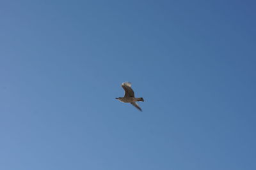
<instances>
[{"instance_id":1,"label":"brownish-grey gull flying with wings spread against clear blue sky","mask_svg":"<svg viewBox=\"0 0 256 170\"><path fill-rule=\"evenodd\" d=\"M135 97L134 91L131 88L132 83L130 82L124 82L122 83L122 87L125 90L124 97L116 97L118 101L121 101L122 103L131 103L135 108L142 111L139 104L136 103L137 101L144 101L143 97Z\"/></svg>"}]
</instances>

